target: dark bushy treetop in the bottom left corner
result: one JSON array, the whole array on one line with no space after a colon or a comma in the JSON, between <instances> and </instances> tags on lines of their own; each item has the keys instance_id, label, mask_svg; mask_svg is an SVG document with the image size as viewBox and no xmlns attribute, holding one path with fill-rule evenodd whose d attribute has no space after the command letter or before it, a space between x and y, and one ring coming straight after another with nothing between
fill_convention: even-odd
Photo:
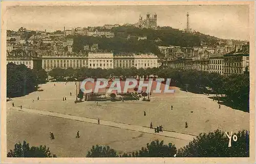
<instances>
[{"instance_id":1,"label":"dark bushy treetop in the bottom left corner","mask_svg":"<svg viewBox=\"0 0 256 164\"><path fill-rule=\"evenodd\" d=\"M32 146L30 148L29 143L27 143L25 140L23 141L23 145L18 143L15 144L14 147L15 148L13 150L10 150L7 153L7 157L53 157L50 149L46 146Z\"/></svg>"}]
</instances>

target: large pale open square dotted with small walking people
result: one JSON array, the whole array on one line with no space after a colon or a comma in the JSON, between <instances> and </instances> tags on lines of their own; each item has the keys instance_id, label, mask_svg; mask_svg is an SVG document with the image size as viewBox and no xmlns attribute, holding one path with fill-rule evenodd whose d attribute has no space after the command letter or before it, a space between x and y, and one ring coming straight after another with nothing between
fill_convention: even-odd
<instances>
[{"instance_id":1,"label":"large pale open square dotted with small walking people","mask_svg":"<svg viewBox=\"0 0 256 164\"><path fill-rule=\"evenodd\" d=\"M249 113L223 105L219 108L208 96L179 88L175 88L172 96L154 93L151 102L108 101L98 105L75 104L75 82L52 82L40 85L40 89L44 91L7 102L7 150L27 140L31 145L50 147L57 157L85 157L96 144L109 145L121 154L138 151L154 139L163 139L165 144L171 142L180 148L202 132L249 130ZM67 100L63 101L65 97ZM22 111L18 110L20 105ZM162 125L164 132L154 133L149 128L151 122L153 127ZM75 138L77 130L80 138ZM55 135L54 140L49 138L50 131Z\"/></svg>"}]
</instances>

